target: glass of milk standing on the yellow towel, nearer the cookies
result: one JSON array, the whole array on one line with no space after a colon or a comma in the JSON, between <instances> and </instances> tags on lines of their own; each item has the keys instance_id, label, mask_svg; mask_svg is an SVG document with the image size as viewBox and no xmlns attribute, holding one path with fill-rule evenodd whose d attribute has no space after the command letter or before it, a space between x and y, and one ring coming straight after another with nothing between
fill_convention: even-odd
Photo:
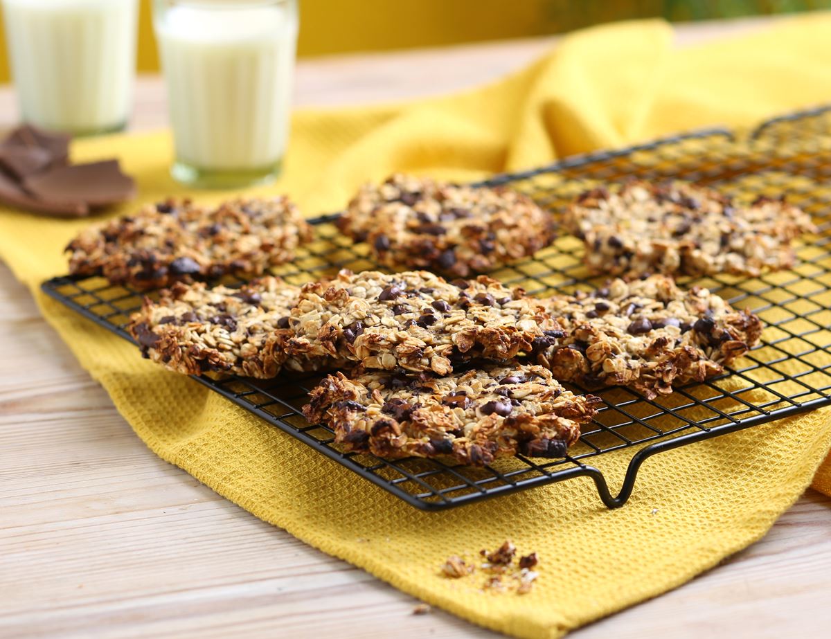
<instances>
[{"instance_id":1,"label":"glass of milk standing on the yellow towel, nearer the cookies","mask_svg":"<svg viewBox=\"0 0 831 639\"><path fill-rule=\"evenodd\" d=\"M296 0L155 0L171 174L208 188L274 179L288 140Z\"/></svg>"}]
</instances>

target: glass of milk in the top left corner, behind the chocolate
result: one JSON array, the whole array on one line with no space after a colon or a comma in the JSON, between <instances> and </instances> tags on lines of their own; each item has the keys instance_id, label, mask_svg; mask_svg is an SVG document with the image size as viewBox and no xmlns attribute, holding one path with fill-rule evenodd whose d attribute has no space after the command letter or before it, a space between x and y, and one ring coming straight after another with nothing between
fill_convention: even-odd
<instances>
[{"instance_id":1,"label":"glass of milk in the top left corner, behind the chocolate","mask_svg":"<svg viewBox=\"0 0 831 639\"><path fill-rule=\"evenodd\" d=\"M2 0L22 119L89 135L130 116L138 0Z\"/></svg>"}]
</instances>

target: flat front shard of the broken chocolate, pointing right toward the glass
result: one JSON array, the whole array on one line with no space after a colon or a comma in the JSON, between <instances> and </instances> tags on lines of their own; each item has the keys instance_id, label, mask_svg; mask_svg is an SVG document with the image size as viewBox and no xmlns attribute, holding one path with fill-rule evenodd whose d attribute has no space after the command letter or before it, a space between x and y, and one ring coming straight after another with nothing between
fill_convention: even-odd
<instances>
[{"instance_id":1,"label":"flat front shard of the broken chocolate, pointing right toward the glass","mask_svg":"<svg viewBox=\"0 0 831 639\"><path fill-rule=\"evenodd\" d=\"M120 204L135 197L135 181L121 172L118 160L59 166L23 179L23 188L37 198L81 201L91 209Z\"/></svg>"}]
</instances>

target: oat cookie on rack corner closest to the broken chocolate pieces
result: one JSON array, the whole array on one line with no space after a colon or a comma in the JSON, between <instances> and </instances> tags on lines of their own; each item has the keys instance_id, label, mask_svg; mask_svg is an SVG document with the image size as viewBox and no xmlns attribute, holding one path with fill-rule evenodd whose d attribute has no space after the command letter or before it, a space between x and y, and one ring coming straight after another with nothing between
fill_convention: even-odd
<instances>
[{"instance_id":1,"label":"oat cookie on rack corner closest to the broken chocolate pieces","mask_svg":"<svg viewBox=\"0 0 831 639\"><path fill-rule=\"evenodd\" d=\"M214 208L169 199L95 224L66 250L70 273L146 290L226 273L262 275L291 260L311 237L312 228L285 197L236 199Z\"/></svg>"}]
</instances>

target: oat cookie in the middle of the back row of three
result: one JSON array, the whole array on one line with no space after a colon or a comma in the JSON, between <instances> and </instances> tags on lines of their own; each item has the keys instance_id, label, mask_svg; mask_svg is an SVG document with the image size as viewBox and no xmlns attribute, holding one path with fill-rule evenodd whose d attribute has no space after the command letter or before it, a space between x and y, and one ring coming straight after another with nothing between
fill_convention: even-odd
<instances>
[{"instance_id":1,"label":"oat cookie in the middle of the back row of three","mask_svg":"<svg viewBox=\"0 0 831 639\"><path fill-rule=\"evenodd\" d=\"M553 240L551 217L526 195L395 174L366 184L338 226L391 268L484 273Z\"/></svg>"}]
</instances>

